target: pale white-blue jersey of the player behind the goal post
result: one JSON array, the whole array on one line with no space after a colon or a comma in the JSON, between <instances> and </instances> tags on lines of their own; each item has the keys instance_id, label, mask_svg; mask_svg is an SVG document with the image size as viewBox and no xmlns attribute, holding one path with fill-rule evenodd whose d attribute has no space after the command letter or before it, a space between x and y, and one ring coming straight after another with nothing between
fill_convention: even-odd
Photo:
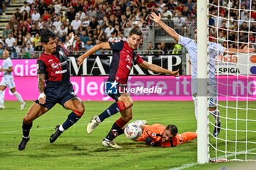
<instances>
[{"instance_id":1,"label":"pale white-blue jersey of the player behind the goal post","mask_svg":"<svg viewBox=\"0 0 256 170\"><path fill-rule=\"evenodd\" d=\"M194 39L184 36L178 37L178 44L183 45L188 53L191 61L192 79L197 79L197 43ZM209 42L209 79L215 80L215 58L217 55L223 55L225 47L214 42ZM211 81L209 82L211 84Z\"/></svg>"}]
</instances>

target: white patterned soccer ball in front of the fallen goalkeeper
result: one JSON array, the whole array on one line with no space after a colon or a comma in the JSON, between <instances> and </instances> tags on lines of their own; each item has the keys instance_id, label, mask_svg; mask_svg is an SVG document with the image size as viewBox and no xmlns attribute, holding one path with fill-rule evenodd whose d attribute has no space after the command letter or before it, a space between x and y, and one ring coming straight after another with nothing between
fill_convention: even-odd
<instances>
[{"instance_id":1,"label":"white patterned soccer ball in front of the fallen goalkeeper","mask_svg":"<svg viewBox=\"0 0 256 170\"><path fill-rule=\"evenodd\" d=\"M129 123L124 128L124 134L128 139L135 140L142 134L142 128L138 123Z\"/></svg>"}]
</instances>

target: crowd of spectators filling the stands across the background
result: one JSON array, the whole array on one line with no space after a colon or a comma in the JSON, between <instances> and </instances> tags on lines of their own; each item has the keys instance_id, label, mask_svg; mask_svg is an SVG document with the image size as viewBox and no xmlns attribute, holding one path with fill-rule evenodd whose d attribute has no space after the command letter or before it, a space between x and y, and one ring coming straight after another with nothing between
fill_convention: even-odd
<instances>
[{"instance_id":1,"label":"crowd of spectators filling the stands across the background","mask_svg":"<svg viewBox=\"0 0 256 170\"><path fill-rule=\"evenodd\" d=\"M238 15L240 1L244 10ZM218 1L210 1L210 40L232 47L237 45L235 41L246 42L248 37L255 42L256 23L249 24L247 21L249 15L255 19L256 12L249 9L256 8L256 1L252 1L252 7L248 5L249 0L220 2L223 7L218 9ZM15 10L4 28L0 55L5 46L13 53L26 53L28 56L23 55L25 58L37 58L31 53L43 50L40 33L46 28L55 32L60 43L67 42L69 33L74 32L75 41L69 47L69 53L84 53L100 42L126 40L129 31L135 26L146 34L152 26L149 18L151 11L161 14L162 20L173 20L175 28L184 28L196 23L196 4L196 0L27 0L23 2L23 7ZM226 7L233 9L227 10ZM228 15L232 19L223 19ZM234 32L229 31L227 34L227 28ZM227 43L227 39L233 43ZM164 42L151 46L152 50L166 53L175 47L175 43L171 47L167 47ZM242 46L242 43L238 46Z\"/></svg>"}]
</instances>

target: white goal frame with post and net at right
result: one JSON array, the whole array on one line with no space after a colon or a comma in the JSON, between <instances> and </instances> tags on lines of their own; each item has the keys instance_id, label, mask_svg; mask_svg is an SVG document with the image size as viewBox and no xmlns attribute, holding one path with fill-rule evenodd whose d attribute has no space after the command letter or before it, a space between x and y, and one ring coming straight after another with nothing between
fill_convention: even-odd
<instances>
[{"instance_id":1,"label":"white goal frame with post and net at right","mask_svg":"<svg viewBox=\"0 0 256 170\"><path fill-rule=\"evenodd\" d=\"M197 0L197 163L256 161L256 53L248 49L256 47L255 20L256 1ZM218 45L214 59L211 42ZM236 53L220 54L223 47ZM206 81L214 74L218 135L208 111L214 90Z\"/></svg>"}]
</instances>

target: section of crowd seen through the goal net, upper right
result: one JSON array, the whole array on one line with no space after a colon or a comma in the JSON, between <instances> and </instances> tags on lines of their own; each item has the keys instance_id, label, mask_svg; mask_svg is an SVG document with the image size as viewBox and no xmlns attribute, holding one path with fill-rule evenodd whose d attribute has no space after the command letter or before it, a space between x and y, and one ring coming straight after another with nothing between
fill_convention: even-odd
<instances>
[{"instance_id":1,"label":"section of crowd seen through the goal net, upper right","mask_svg":"<svg viewBox=\"0 0 256 170\"><path fill-rule=\"evenodd\" d=\"M218 7L219 6L219 7ZM227 20L227 17L229 20ZM256 1L211 0L209 6L210 41L224 47L242 48L256 38Z\"/></svg>"}]
</instances>

